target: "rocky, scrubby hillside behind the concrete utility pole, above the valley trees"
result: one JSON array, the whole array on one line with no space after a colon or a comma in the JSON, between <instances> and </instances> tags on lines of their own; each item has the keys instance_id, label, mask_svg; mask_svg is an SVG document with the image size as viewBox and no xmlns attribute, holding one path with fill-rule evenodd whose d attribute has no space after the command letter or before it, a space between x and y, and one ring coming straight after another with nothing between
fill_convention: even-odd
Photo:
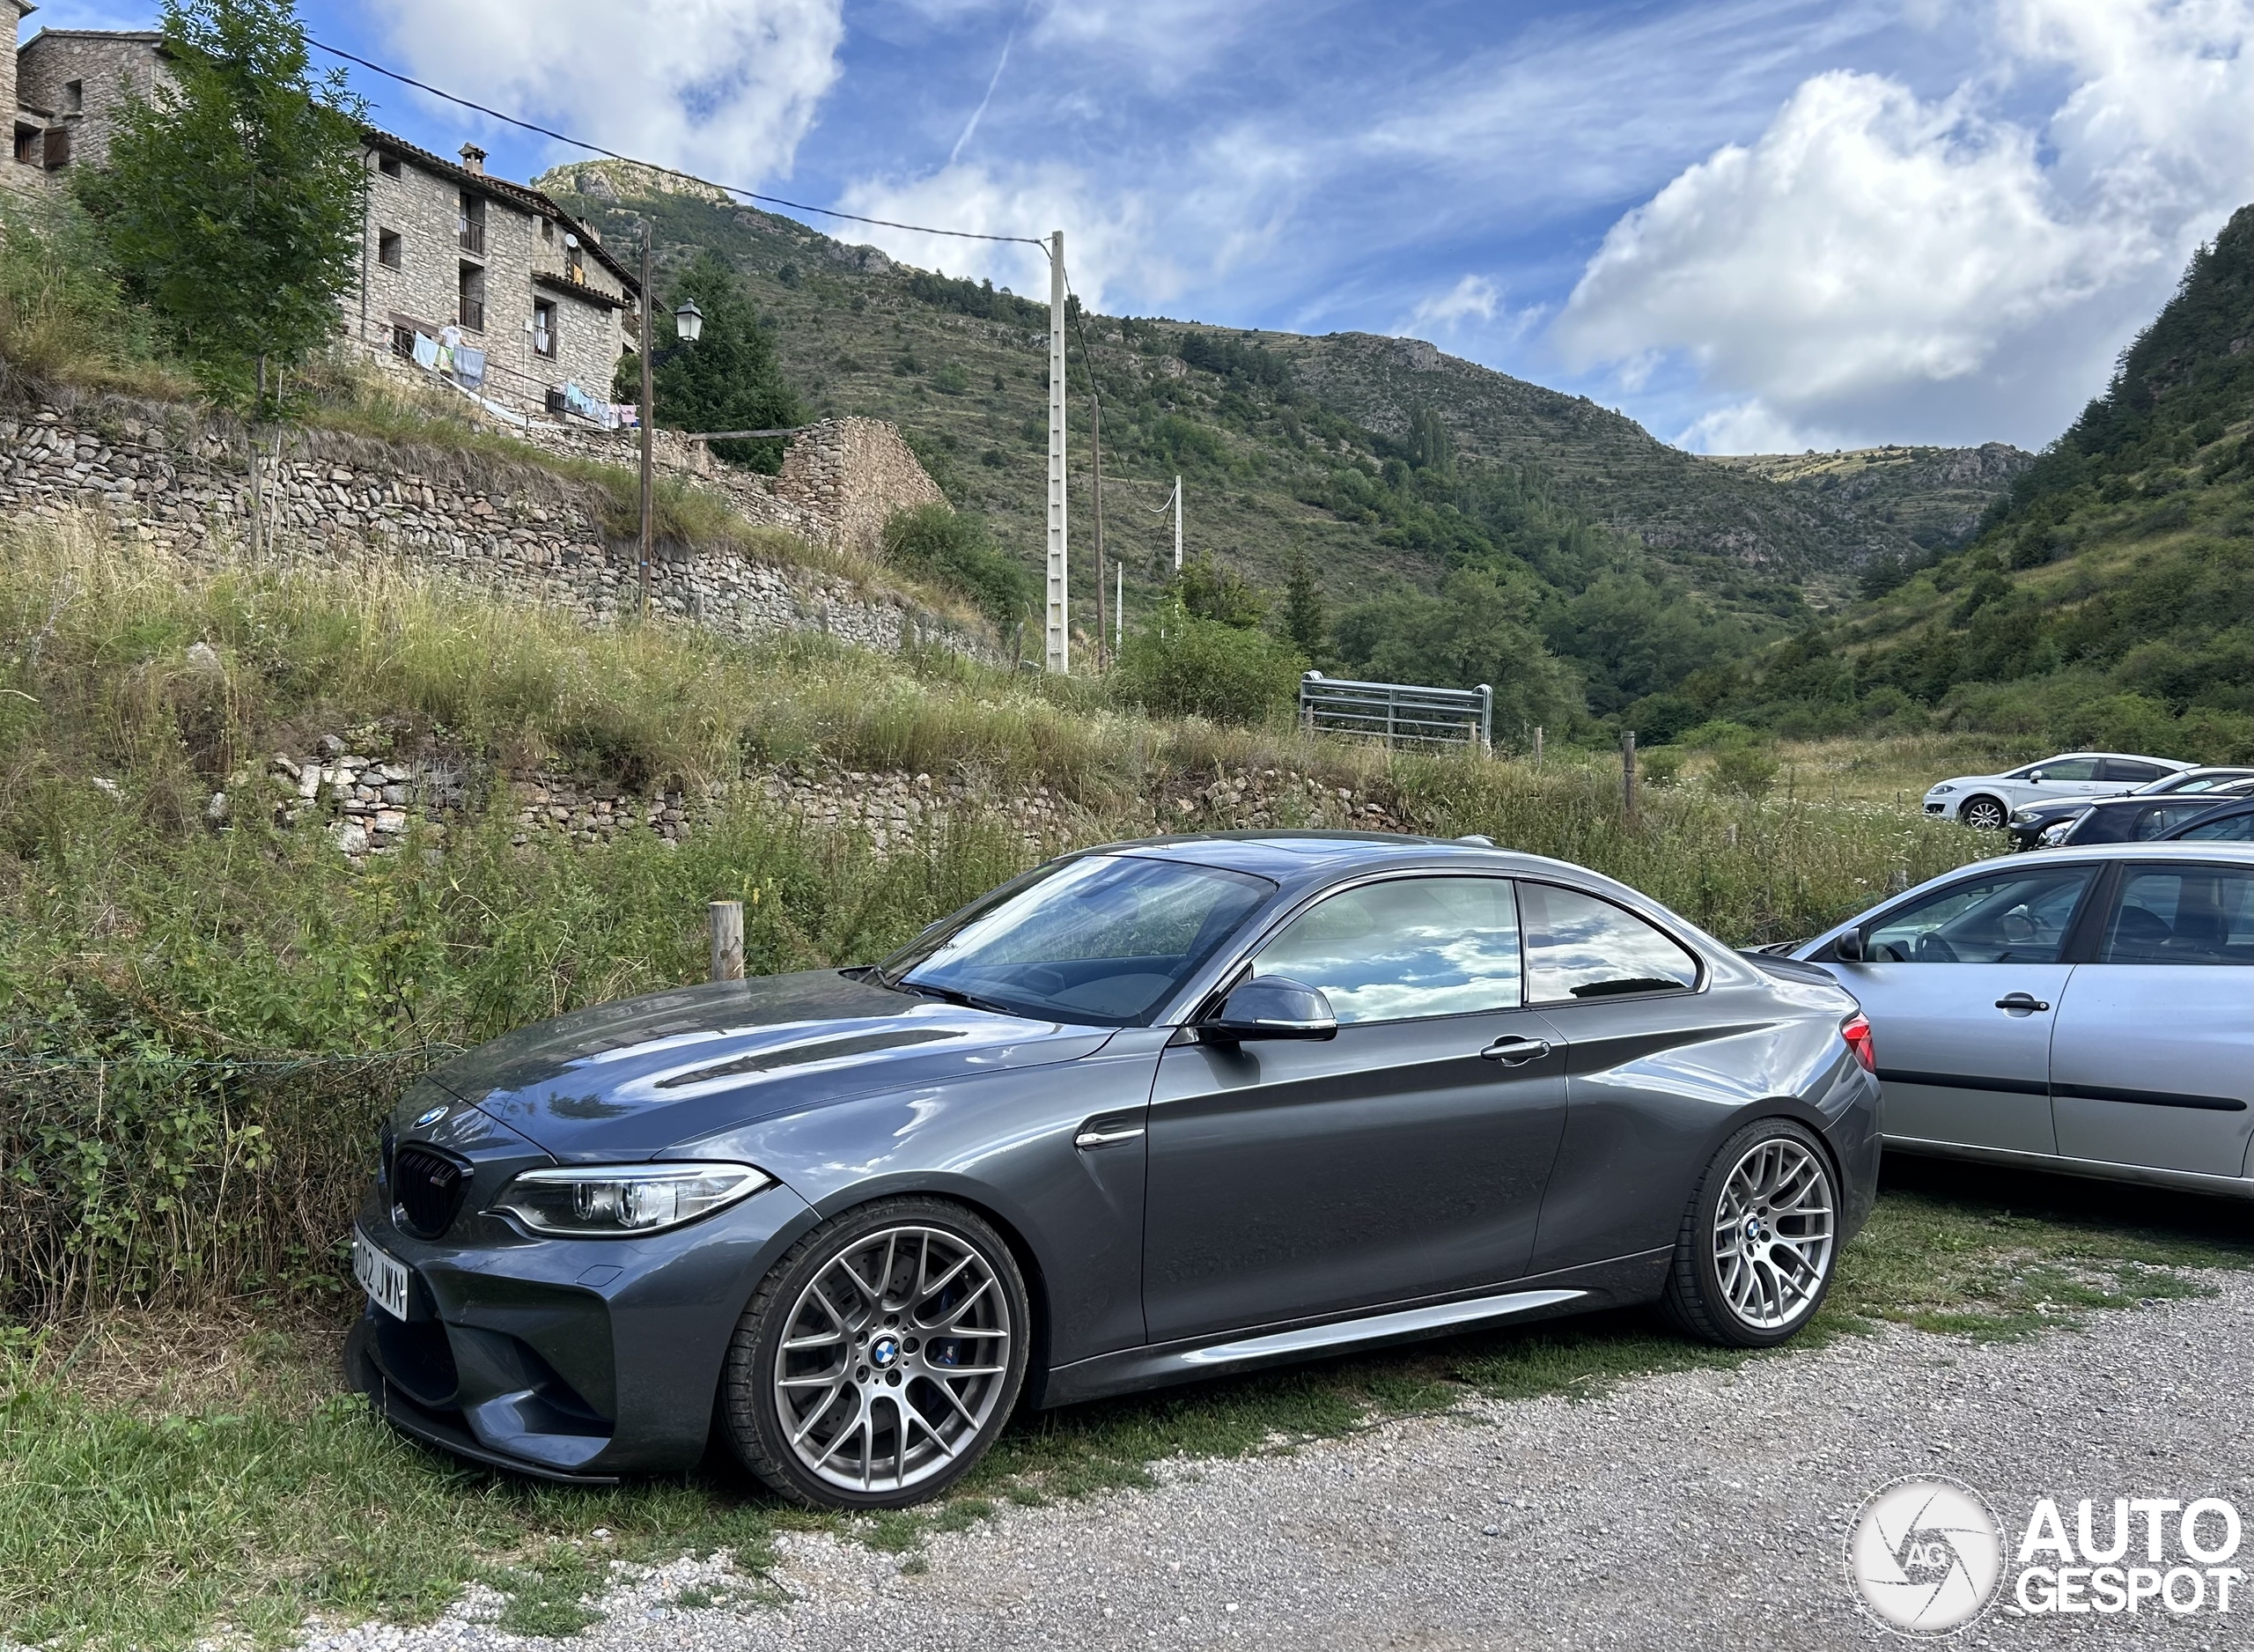
<instances>
[{"instance_id":1,"label":"rocky, scrubby hillside behind the concrete utility pole, above the valley trees","mask_svg":"<svg viewBox=\"0 0 2254 1652\"><path fill-rule=\"evenodd\" d=\"M629 205L649 210L665 264L692 248L721 252L775 325L782 363L816 410L897 421L958 503L980 509L1021 557L1037 557L1046 304L651 185L606 162L541 178L615 234L631 232ZM1305 550L1343 602L1400 584L1434 588L1465 561L1449 509L1485 543L1508 539L1526 503L1539 509L1544 534L1582 532L1589 543L1571 570L1537 566L1567 588L1598 566L1648 568L1772 624L1801 615L1803 595L1839 599L1864 563L1918 550L1914 530L1925 518L1916 509L1905 521L1884 516L1902 516L1916 494L1909 476L1891 478L1884 509L1857 509L1823 489L1670 448L1585 397L1422 340L1111 316L1084 316L1080 331L1071 345L1075 453L1089 426L1086 343L1104 394L1107 545L1127 561L1132 606L1163 572L1156 559L1170 559L1170 530L1150 507L1177 473L1188 482L1192 550L1262 584L1280 584L1287 554ZM1413 487L1404 471L1418 473ZM1995 476L1988 491L2006 480ZM1936 478L1950 503L1929 514L1961 516L1965 485L1954 473ZM1497 505L1494 489L1510 500ZM1073 523L1075 545L1091 545L1093 498L1077 458ZM1607 550L1589 554L1591 543Z\"/></svg>"}]
</instances>

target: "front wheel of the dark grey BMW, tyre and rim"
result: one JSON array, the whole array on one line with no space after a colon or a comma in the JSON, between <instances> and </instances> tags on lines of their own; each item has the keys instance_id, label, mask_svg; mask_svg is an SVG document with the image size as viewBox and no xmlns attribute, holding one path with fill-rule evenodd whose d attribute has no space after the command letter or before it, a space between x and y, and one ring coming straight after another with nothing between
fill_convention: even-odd
<instances>
[{"instance_id":1,"label":"front wheel of the dark grey BMW, tyre and rim","mask_svg":"<svg viewBox=\"0 0 2254 1652\"><path fill-rule=\"evenodd\" d=\"M760 1280L728 1343L721 1424L793 1503L922 1503L1010 1420L1030 1330L1026 1280L992 1226L947 1199L879 1199Z\"/></svg>"}]
</instances>

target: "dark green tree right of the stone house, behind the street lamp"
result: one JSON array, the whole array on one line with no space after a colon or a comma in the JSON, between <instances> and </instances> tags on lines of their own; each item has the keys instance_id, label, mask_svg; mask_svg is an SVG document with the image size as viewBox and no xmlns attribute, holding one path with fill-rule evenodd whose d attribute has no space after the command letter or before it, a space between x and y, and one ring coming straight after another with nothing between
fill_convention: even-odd
<instances>
[{"instance_id":1,"label":"dark green tree right of the stone house, behind the street lamp","mask_svg":"<svg viewBox=\"0 0 2254 1652\"><path fill-rule=\"evenodd\" d=\"M674 347L674 309L685 297L703 311L703 334L656 370L651 394L658 424L674 430L787 430L800 424L805 408L775 365L773 334L760 322L735 270L710 250L674 279L667 304L649 318L649 343L660 352ZM633 385L620 401L640 394L640 372L631 354L620 361L620 385ZM712 453L773 476L782 469L784 446L782 437L715 442Z\"/></svg>"}]
</instances>

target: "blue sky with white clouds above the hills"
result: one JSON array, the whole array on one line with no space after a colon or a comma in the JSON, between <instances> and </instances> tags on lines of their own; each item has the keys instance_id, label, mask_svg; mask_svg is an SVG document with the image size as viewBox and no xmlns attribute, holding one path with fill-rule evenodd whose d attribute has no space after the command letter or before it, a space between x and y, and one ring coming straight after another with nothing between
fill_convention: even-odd
<instances>
[{"instance_id":1,"label":"blue sky with white clouds above the hills","mask_svg":"<svg viewBox=\"0 0 2254 1652\"><path fill-rule=\"evenodd\" d=\"M32 25L147 25L47 0ZM2008 439L2249 187L2254 0L307 0L613 149L1064 228L1102 309L1402 331L1709 451ZM354 72L532 176L539 137ZM820 221L816 221L820 223ZM823 225L836 230L836 225ZM836 230L1039 293L1023 248Z\"/></svg>"}]
</instances>

